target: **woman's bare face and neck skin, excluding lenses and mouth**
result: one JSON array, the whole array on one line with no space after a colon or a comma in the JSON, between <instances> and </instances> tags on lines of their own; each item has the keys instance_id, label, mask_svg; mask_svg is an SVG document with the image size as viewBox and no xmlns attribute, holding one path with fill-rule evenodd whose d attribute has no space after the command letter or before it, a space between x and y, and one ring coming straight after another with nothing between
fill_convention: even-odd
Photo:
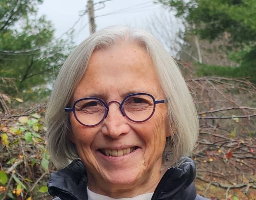
<instances>
[{"instance_id":1,"label":"woman's bare face and neck skin, excluding lenses and mouth","mask_svg":"<svg viewBox=\"0 0 256 200\"><path fill-rule=\"evenodd\" d=\"M118 44L95 51L77 85L73 100L100 94L106 103L121 102L128 91L145 92L156 100L165 98L147 52L138 45ZM90 190L113 198L153 192L160 181L162 152L167 130L167 105L157 104L152 118L135 123L123 117L116 103L96 127L79 124L71 114L69 138L88 171ZM96 151L106 146L139 146L140 151L122 162L109 162Z\"/></svg>"}]
</instances>

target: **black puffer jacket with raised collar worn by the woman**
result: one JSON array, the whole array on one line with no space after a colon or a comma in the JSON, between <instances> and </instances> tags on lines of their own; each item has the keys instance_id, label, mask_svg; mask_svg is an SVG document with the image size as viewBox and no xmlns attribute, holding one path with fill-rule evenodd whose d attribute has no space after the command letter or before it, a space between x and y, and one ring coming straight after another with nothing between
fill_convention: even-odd
<instances>
[{"instance_id":1,"label":"black puffer jacket with raised collar worn by the woman","mask_svg":"<svg viewBox=\"0 0 256 200\"><path fill-rule=\"evenodd\" d=\"M196 166L186 158L180 167L170 167L161 178L151 200L206 200L196 194ZM83 163L74 160L68 167L52 173L48 191L54 200L87 200L87 174Z\"/></svg>"}]
</instances>

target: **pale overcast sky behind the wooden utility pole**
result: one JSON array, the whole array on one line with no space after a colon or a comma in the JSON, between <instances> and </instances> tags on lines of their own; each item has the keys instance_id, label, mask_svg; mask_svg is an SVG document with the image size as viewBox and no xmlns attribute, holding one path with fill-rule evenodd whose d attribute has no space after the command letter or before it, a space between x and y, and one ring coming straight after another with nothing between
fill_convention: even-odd
<instances>
[{"instance_id":1,"label":"pale overcast sky behind the wooden utility pole","mask_svg":"<svg viewBox=\"0 0 256 200\"><path fill-rule=\"evenodd\" d=\"M160 15L164 9L160 4L150 0L109 0L105 8L94 0L96 29L100 30L111 25L130 25L145 28L150 16ZM98 3L98 4L96 4ZM46 15L52 21L58 38L69 30L86 9L87 0L44 0L39 6L38 15ZM98 9L98 10L97 10ZM166 12L166 11L165 11ZM101 16L105 15L105 16ZM75 25L74 42L79 44L89 36L88 15L85 14Z\"/></svg>"}]
</instances>

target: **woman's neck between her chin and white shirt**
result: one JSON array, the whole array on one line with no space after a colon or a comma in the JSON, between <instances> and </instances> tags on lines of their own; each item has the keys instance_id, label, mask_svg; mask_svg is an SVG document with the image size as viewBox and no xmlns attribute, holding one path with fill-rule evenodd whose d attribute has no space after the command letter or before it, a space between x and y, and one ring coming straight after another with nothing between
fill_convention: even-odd
<instances>
[{"instance_id":1,"label":"woman's neck between her chin and white shirt","mask_svg":"<svg viewBox=\"0 0 256 200\"><path fill-rule=\"evenodd\" d=\"M145 178L138 177L134 182L122 185L109 183L102 178L97 179L88 172L88 188L97 194L112 198L130 198L154 192L161 179L161 159L156 164L157 166L143 175Z\"/></svg>"}]
</instances>

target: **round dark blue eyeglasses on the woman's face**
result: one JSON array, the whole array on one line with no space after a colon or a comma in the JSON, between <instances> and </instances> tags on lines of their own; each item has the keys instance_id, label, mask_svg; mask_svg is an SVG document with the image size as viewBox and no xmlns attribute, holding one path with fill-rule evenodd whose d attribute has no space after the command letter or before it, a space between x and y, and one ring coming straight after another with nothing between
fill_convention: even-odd
<instances>
[{"instance_id":1,"label":"round dark blue eyeglasses on the woman's face","mask_svg":"<svg viewBox=\"0 0 256 200\"><path fill-rule=\"evenodd\" d=\"M155 100L147 93L130 94L121 103L110 101L108 104L99 98L89 97L75 101L73 108L65 108L65 111L73 112L76 120L84 126L97 126L107 117L109 105L117 103L124 117L139 123L150 119L155 112L156 104L165 101Z\"/></svg>"}]
</instances>

